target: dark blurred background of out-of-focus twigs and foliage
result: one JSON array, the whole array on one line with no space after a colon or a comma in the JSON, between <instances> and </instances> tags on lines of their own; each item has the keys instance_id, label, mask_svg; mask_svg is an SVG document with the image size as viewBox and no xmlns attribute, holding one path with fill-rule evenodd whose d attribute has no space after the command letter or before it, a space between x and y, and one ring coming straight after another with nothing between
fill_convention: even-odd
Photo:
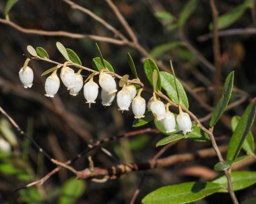
<instances>
[{"instance_id":1,"label":"dark blurred background of out-of-focus twigs and foliage","mask_svg":"<svg viewBox=\"0 0 256 204\"><path fill-rule=\"evenodd\" d=\"M75 7L70 1L46 0L18 1L9 11L9 20L22 28L58 31L63 30L77 34L94 34L118 38L105 26ZM106 1L73 1L104 19L129 38L119 19ZM44 96L46 76L41 73L54 65L43 61L30 61L34 71L32 88L24 89L18 77L18 71L28 55L28 44L42 46L49 53L50 59L63 63L64 59L57 50L57 41L66 48L75 50L86 67L92 67L92 59L97 57L95 42L98 42L104 59L109 61L119 75L132 73L127 62L127 52L131 54L139 78L149 86L143 71L143 60L152 57L158 60L160 69L174 63L177 77L184 81L189 98L189 110L198 118L204 118L214 106L215 71L212 37L212 10L209 1L114 1L119 11L135 32L141 49L130 45L118 45L94 41L88 38L75 39L64 36L44 36L20 32L0 22L0 106L42 146L53 158L62 162L73 158L83 151L88 143L130 131L154 128L154 123L145 127L132 127L133 113L119 112L117 103L104 108L100 97L92 108L84 99L82 92L71 96L62 85L55 98ZM190 1L191 2L191 1ZM0 17L5 18L7 1L0 1ZM225 145L232 135L230 118L241 115L256 93L256 18L255 1L227 0L216 1L222 20L222 31L231 30L220 37L221 81L235 71L234 84L243 92L234 92L231 102L245 99L226 112L216 125L215 135L218 145ZM187 10L186 10L187 9ZM188 18L185 16L188 15ZM182 22L182 19L185 22ZM247 29L250 28L251 32ZM240 29L236 33L234 29ZM206 34L206 36L205 36ZM148 55L148 56L147 56ZM205 63L206 61L206 63ZM209 65L210 63L210 65ZM162 65L162 66L161 66ZM82 72L84 79L89 73ZM131 77L130 77L131 78ZM208 88L208 89L207 89ZM206 90L205 90L206 89ZM151 96L143 92L143 98ZM175 110L177 111L177 110ZM203 124L208 124L205 118ZM253 127L255 131L255 127ZM143 134L132 138L112 141L104 145L113 154L110 158L100 149L90 152L95 166L108 168L124 162L143 162L150 160L161 149L156 143L162 134ZM142 172L133 172L115 180L96 183L90 180L75 180L74 175L61 170L41 186L23 189L13 193L13 189L24 186L33 180L42 178L55 165L38 152L31 141L22 137L0 115L0 138L11 144L11 149L0 149L0 203L129 203L141 180ZM210 142L197 143L182 140L168 148L161 156L170 156L197 149L211 147ZM4 151L7 150L7 151ZM216 176L212 170L217 158L197 159L192 162L177 164L166 168L148 170L141 184L141 191L135 203L154 189L168 184L177 184L192 180L209 180ZM86 157L73 164L76 170L88 167ZM241 170L255 170L255 164L247 164ZM255 186L236 193L239 200L256 195ZM231 203L228 194L216 194L195 203Z\"/></svg>"}]
</instances>

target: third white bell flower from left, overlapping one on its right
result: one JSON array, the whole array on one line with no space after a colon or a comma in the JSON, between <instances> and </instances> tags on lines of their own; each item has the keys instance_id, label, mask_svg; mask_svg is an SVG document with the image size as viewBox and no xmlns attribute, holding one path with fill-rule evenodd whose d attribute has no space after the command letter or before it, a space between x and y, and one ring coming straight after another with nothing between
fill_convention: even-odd
<instances>
[{"instance_id":1,"label":"third white bell flower from left, overlapping one on its right","mask_svg":"<svg viewBox=\"0 0 256 204\"><path fill-rule=\"evenodd\" d=\"M74 88L76 84L75 71L69 67L63 67L61 69L61 81L67 87L67 90Z\"/></svg>"}]
</instances>

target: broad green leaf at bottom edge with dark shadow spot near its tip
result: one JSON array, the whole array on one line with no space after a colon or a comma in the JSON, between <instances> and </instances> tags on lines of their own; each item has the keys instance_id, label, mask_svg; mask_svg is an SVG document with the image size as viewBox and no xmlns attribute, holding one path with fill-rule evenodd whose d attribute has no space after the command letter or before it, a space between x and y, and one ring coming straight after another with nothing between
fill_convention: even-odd
<instances>
[{"instance_id":1,"label":"broad green leaf at bottom edge with dark shadow spot near its tip","mask_svg":"<svg viewBox=\"0 0 256 204\"><path fill-rule=\"evenodd\" d=\"M213 182L184 182L164 186L142 199L144 204L181 204L203 199L220 191L222 187Z\"/></svg>"}]
</instances>

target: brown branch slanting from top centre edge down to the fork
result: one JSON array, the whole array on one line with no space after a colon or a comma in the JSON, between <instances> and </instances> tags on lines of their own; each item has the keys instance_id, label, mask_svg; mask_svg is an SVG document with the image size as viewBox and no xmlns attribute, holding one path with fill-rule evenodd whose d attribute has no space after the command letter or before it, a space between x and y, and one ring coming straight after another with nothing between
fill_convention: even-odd
<instances>
[{"instance_id":1,"label":"brown branch slanting from top centre edge down to the fork","mask_svg":"<svg viewBox=\"0 0 256 204\"><path fill-rule=\"evenodd\" d=\"M123 18L123 15L120 13L120 11L117 8L117 6L115 5L115 3L113 3L113 1L111 1L111 0L105 0L105 1L106 1L106 3L108 3L109 7L114 11L114 13L117 16L119 22L123 25L123 28L125 28L126 32L131 37L131 40L133 40L133 42L135 44L138 44L138 40L137 40L136 35L134 34L133 30L131 29L131 27L129 26L129 24L125 20L125 18Z\"/></svg>"}]
</instances>

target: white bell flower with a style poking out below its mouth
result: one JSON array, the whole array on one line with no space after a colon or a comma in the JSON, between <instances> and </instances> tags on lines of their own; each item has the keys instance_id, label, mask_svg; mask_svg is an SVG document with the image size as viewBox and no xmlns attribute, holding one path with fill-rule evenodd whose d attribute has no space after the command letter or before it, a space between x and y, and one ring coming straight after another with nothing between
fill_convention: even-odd
<instances>
[{"instance_id":1,"label":"white bell flower with a style poking out below its mouth","mask_svg":"<svg viewBox=\"0 0 256 204\"><path fill-rule=\"evenodd\" d=\"M86 98L86 103L91 104L95 103L95 100L98 96L98 84L94 82L93 77L84 84L84 98Z\"/></svg>"}]
</instances>

